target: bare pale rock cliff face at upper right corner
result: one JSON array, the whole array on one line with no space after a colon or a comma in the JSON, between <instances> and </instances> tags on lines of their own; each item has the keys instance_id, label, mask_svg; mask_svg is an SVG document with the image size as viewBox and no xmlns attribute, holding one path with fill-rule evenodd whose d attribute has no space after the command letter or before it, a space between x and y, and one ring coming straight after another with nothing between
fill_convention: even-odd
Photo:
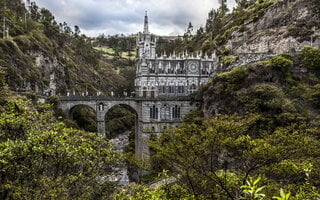
<instances>
[{"instance_id":1,"label":"bare pale rock cliff face at upper right corner","mask_svg":"<svg viewBox=\"0 0 320 200\"><path fill-rule=\"evenodd\" d=\"M304 46L320 47L320 4L316 0L283 0L233 31L225 48L239 53L283 53ZM311 43L312 40L312 43Z\"/></svg>"}]
</instances>

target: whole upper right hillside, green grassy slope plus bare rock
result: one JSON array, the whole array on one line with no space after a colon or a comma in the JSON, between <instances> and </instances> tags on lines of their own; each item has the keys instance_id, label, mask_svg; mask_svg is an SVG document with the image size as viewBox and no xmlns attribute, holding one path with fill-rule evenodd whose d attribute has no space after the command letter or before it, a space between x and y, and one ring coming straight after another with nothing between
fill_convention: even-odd
<instances>
[{"instance_id":1,"label":"whole upper right hillside, green grassy slope plus bare rock","mask_svg":"<svg viewBox=\"0 0 320 200\"><path fill-rule=\"evenodd\" d=\"M320 47L319 17L317 0L239 1L230 13L223 5L212 10L206 26L178 50L279 54L300 51L311 39Z\"/></svg>"}]
</instances>

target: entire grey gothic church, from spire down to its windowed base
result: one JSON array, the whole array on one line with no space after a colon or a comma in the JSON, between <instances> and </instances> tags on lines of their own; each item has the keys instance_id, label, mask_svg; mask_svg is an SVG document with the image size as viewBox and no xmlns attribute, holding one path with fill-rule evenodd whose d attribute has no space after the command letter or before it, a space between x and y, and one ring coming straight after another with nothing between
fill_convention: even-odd
<instances>
[{"instance_id":1,"label":"entire grey gothic church, from spire down to its windowed base","mask_svg":"<svg viewBox=\"0 0 320 200\"><path fill-rule=\"evenodd\" d=\"M189 95L209 81L218 62L215 55L189 56L186 52L158 57L156 46L146 14L143 33L137 38L135 79L136 97L141 102L138 131L144 139L177 126L189 111L196 109Z\"/></svg>"}]
</instances>

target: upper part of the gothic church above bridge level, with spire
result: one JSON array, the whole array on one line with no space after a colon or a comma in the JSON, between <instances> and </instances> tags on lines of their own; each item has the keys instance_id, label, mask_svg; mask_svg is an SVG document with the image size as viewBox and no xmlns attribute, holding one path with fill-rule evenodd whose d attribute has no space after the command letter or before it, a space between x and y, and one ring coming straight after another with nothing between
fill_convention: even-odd
<instances>
[{"instance_id":1,"label":"upper part of the gothic church above bridge level, with spire","mask_svg":"<svg viewBox=\"0 0 320 200\"><path fill-rule=\"evenodd\" d=\"M145 16L143 34L137 39L136 96L167 98L188 96L209 81L218 59L213 54L156 54L156 37L148 29Z\"/></svg>"}]
</instances>

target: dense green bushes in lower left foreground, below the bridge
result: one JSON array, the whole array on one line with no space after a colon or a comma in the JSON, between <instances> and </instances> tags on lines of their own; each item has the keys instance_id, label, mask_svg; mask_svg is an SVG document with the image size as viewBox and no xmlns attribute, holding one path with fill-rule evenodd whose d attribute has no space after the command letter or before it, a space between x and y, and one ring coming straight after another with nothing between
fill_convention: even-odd
<instances>
[{"instance_id":1,"label":"dense green bushes in lower left foreground, below the bridge","mask_svg":"<svg viewBox=\"0 0 320 200\"><path fill-rule=\"evenodd\" d=\"M94 133L56 122L48 105L9 101L0 114L1 199L106 199L121 158Z\"/></svg>"}]
</instances>

